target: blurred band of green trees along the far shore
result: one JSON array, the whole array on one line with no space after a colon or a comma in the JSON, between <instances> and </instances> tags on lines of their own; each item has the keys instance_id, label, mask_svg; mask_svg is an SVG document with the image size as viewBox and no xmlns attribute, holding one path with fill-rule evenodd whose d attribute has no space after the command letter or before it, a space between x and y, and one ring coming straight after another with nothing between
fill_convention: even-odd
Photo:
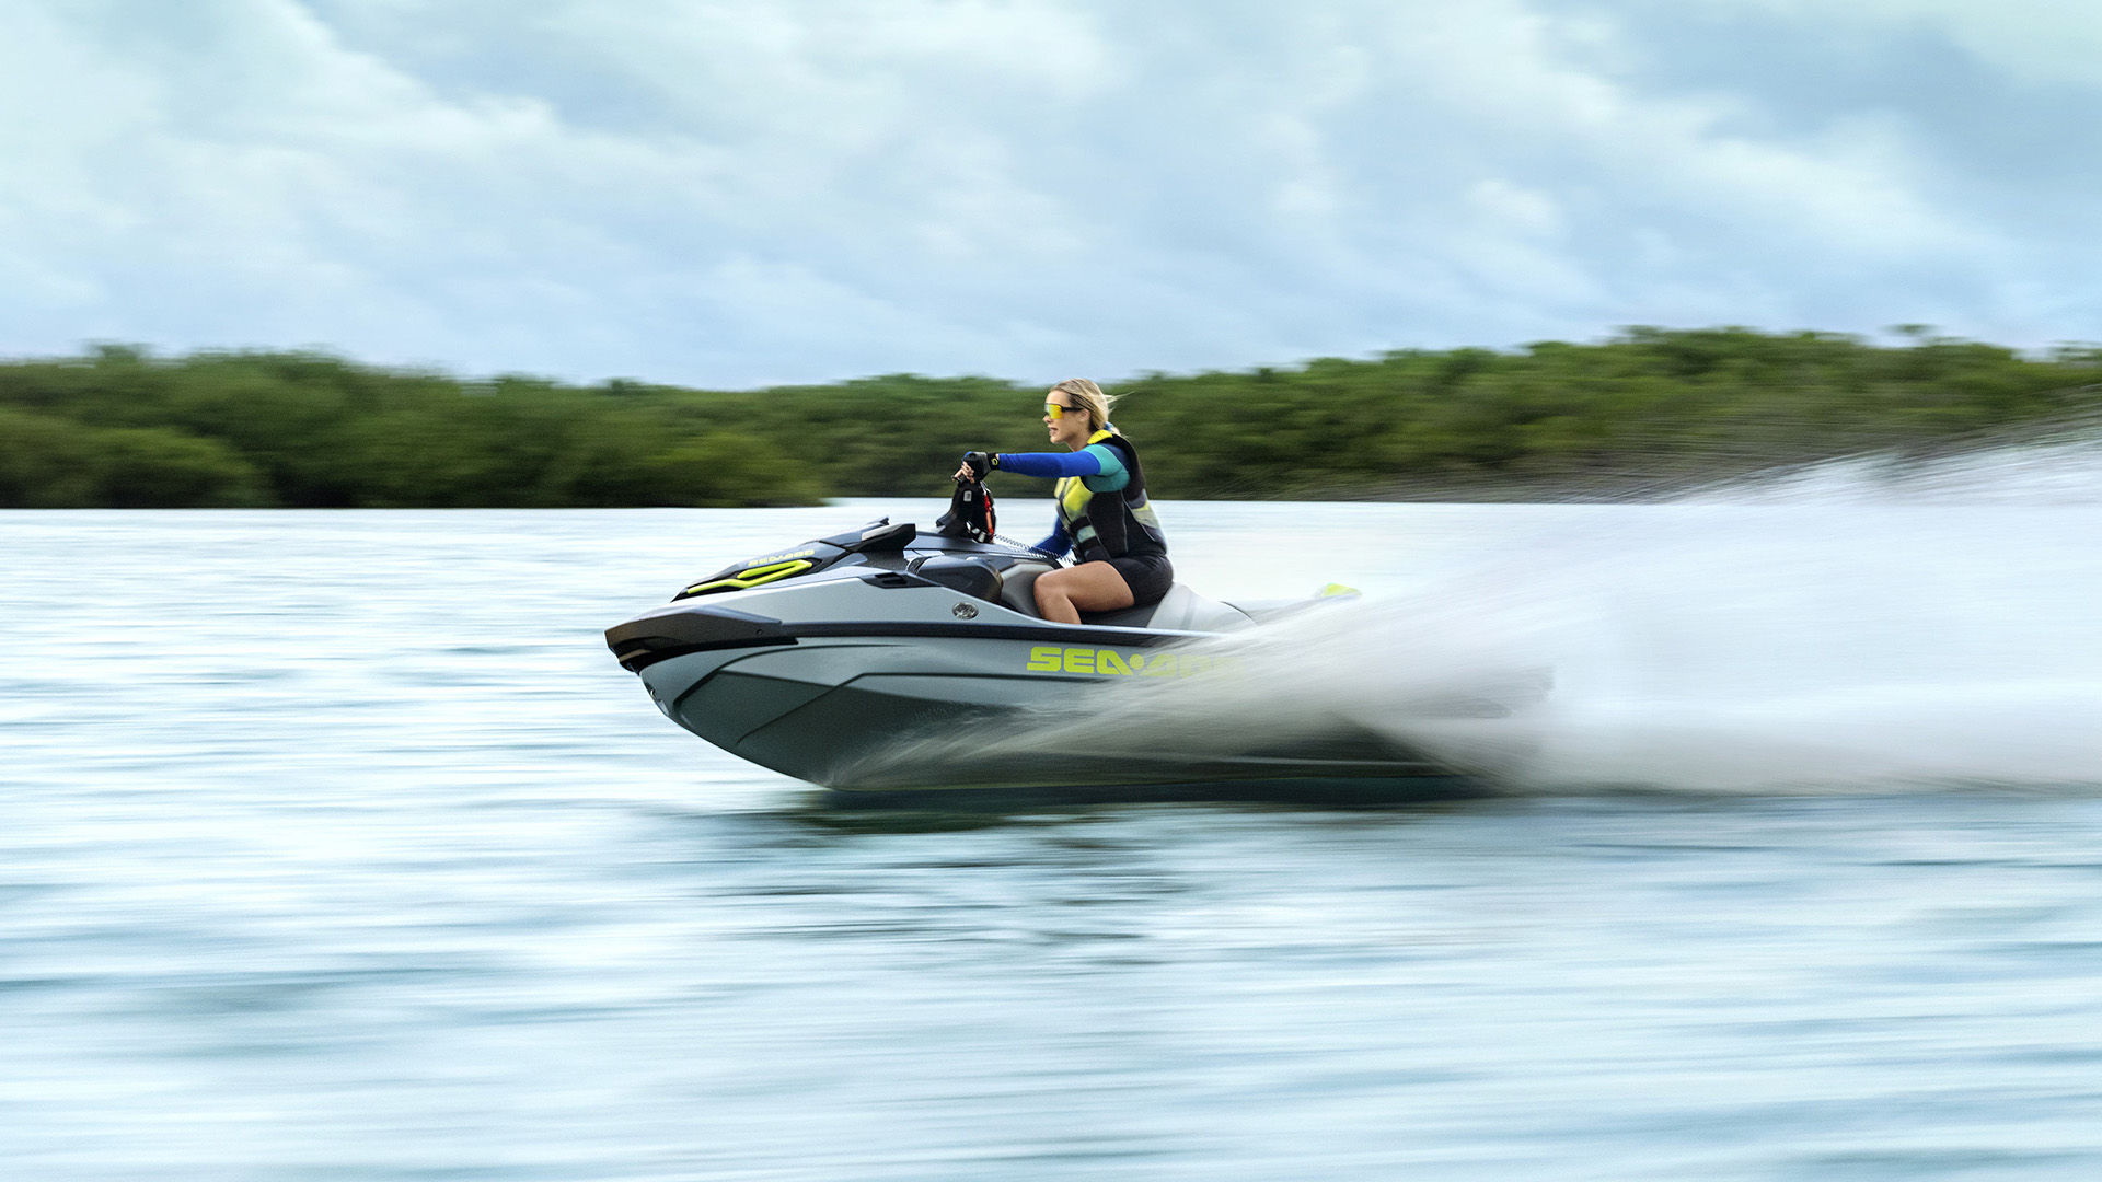
<instances>
[{"instance_id":1,"label":"blurred band of green trees along the far shore","mask_svg":"<svg viewBox=\"0 0 2102 1182\"><path fill-rule=\"evenodd\" d=\"M2102 349L1635 328L1598 345L1148 374L1118 427L1158 496L1585 496L2102 410ZM0 364L0 507L803 505L940 496L1043 450L1040 387L881 376L759 391L458 381L317 353ZM998 492L1047 486L1003 480Z\"/></svg>"}]
</instances>

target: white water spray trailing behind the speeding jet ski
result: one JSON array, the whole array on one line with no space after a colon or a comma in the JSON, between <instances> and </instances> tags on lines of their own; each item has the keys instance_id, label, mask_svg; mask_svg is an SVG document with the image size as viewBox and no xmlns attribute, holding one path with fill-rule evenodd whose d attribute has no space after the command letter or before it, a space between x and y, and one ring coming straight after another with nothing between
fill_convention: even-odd
<instances>
[{"instance_id":1,"label":"white water spray trailing behind the speeding jet ski","mask_svg":"<svg viewBox=\"0 0 2102 1182\"><path fill-rule=\"evenodd\" d=\"M1356 736L1505 791L2102 784L2098 473L2091 446L1850 461L1534 519L1408 591L1209 641L1213 675L866 772Z\"/></svg>"}]
</instances>

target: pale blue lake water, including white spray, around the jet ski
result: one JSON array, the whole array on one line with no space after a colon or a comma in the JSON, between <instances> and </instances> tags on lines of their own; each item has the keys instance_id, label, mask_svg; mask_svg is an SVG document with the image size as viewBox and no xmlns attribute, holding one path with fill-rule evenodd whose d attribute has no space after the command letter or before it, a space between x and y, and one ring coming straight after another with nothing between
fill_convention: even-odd
<instances>
[{"instance_id":1,"label":"pale blue lake water, including white spray, around the jet ski","mask_svg":"<svg viewBox=\"0 0 2102 1182\"><path fill-rule=\"evenodd\" d=\"M935 503L0 513L0 1174L2102 1176L2087 471L1169 503L1200 589L1366 591L1181 721L1503 759L1358 812L847 812L601 644Z\"/></svg>"}]
</instances>

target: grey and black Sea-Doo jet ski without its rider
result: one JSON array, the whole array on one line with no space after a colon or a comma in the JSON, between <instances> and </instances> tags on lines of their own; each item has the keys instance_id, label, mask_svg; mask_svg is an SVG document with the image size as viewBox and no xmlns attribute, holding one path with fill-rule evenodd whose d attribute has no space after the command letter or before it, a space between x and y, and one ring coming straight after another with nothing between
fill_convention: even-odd
<instances>
[{"instance_id":1,"label":"grey and black Sea-Doo jet ski without its rider","mask_svg":"<svg viewBox=\"0 0 2102 1182\"><path fill-rule=\"evenodd\" d=\"M885 517L725 566L607 629L605 644L681 728L837 791L1452 789L1455 768L1364 730L1202 755L1078 745L1055 759L971 759L973 736L1099 702L1112 681L1221 675L1204 641L1333 602L1225 604L1177 583L1158 604L1045 620L1032 585L1057 562L996 538L990 498L984 515L967 513L971 492L967 482L933 532ZM872 761L929 736L946 757L904 776Z\"/></svg>"}]
</instances>

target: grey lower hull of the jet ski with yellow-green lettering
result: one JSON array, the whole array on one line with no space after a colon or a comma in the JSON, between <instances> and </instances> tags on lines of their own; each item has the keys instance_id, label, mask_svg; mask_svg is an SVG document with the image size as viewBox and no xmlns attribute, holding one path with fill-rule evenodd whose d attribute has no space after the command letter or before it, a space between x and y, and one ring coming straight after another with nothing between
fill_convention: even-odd
<instances>
[{"instance_id":1,"label":"grey lower hull of the jet ski with yellow-green lettering","mask_svg":"<svg viewBox=\"0 0 2102 1182\"><path fill-rule=\"evenodd\" d=\"M1062 644L1045 644L1057 639ZM1110 673L1068 673L1072 656ZM841 793L1204 789L1406 782L1452 770L1371 734L1307 736L1270 749L1194 755L1059 751L1001 755L1001 738L1057 724L1110 681L1209 677L1209 658L1141 637L1034 631L990 635L801 635L685 652L641 669L658 709L708 742ZM973 742L977 736L982 742ZM933 745L933 747L927 747ZM935 753L933 757L914 757Z\"/></svg>"}]
</instances>

